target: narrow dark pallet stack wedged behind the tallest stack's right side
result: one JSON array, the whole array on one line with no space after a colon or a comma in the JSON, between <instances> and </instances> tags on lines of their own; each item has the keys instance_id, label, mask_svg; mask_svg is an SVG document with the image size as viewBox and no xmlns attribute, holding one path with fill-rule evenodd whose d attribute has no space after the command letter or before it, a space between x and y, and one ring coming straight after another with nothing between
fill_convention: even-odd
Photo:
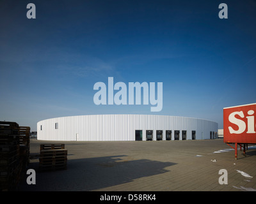
<instances>
[{"instance_id":1,"label":"narrow dark pallet stack wedged behind the tallest stack's right side","mask_svg":"<svg viewBox=\"0 0 256 204\"><path fill-rule=\"evenodd\" d=\"M30 127L19 126L18 133L20 140L20 161L22 163L22 170L26 170L29 165Z\"/></svg>"}]
</instances>

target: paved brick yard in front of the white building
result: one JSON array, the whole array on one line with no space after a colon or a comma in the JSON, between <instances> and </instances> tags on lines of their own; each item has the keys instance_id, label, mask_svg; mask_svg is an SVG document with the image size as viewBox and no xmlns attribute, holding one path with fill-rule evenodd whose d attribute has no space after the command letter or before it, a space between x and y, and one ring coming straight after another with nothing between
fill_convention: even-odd
<instances>
[{"instance_id":1,"label":"paved brick yard in front of the white building","mask_svg":"<svg viewBox=\"0 0 256 204\"><path fill-rule=\"evenodd\" d=\"M235 160L234 150L221 139L31 140L31 155L39 154L42 143L65 143L67 170L40 171L38 159L31 159L29 168L36 171L36 184L28 185L24 179L19 191L256 191L256 147L250 147L246 157L238 151ZM218 182L221 169L227 170L227 185Z\"/></svg>"}]
</instances>

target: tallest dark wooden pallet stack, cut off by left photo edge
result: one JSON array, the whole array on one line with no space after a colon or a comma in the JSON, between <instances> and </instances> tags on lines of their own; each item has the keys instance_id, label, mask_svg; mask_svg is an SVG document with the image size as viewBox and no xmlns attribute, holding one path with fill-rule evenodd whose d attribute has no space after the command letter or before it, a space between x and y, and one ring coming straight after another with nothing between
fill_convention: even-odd
<instances>
[{"instance_id":1,"label":"tallest dark wooden pallet stack, cut off by left photo edge","mask_svg":"<svg viewBox=\"0 0 256 204\"><path fill-rule=\"evenodd\" d=\"M19 124L0 121L0 191L11 191L20 181Z\"/></svg>"}]
</instances>

